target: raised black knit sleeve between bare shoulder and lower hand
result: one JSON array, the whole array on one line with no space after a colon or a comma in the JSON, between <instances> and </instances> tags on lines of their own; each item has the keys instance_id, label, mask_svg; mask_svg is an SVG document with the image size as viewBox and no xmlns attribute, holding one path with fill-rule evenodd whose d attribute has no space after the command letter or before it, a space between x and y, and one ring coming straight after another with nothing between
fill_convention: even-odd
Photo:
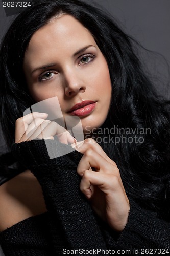
<instances>
[{"instance_id":1,"label":"raised black knit sleeve between bare shoulder and lower hand","mask_svg":"<svg viewBox=\"0 0 170 256\"><path fill-rule=\"evenodd\" d=\"M49 143L48 148L54 152L70 150L70 153L50 159L45 143ZM71 146L54 140L32 140L12 145L14 156L31 170L42 187L50 213L50 231L56 255L62 255L62 248L106 249L91 207L79 190L77 165L82 154L71 151ZM58 230L62 230L60 241Z\"/></svg>"}]
</instances>

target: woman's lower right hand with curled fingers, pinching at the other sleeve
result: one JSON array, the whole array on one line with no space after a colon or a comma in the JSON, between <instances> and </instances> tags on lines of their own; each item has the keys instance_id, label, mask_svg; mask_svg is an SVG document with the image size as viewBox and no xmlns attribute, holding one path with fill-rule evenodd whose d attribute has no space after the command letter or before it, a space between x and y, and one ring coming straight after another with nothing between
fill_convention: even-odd
<instances>
[{"instance_id":1,"label":"woman's lower right hand with curled fingers, pinching at the other sleeve","mask_svg":"<svg viewBox=\"0 0 170 256\"><path fill-rule=\"evenodd\" d=\"M80 143L83 144L80 146ZM122 231L128 222L130 207L117 165L93 139L75 144L72 147L84 154L77 168L82 176L82 193L90 200L96 214L114 230Z\"/></svg>"}]
</instances>

